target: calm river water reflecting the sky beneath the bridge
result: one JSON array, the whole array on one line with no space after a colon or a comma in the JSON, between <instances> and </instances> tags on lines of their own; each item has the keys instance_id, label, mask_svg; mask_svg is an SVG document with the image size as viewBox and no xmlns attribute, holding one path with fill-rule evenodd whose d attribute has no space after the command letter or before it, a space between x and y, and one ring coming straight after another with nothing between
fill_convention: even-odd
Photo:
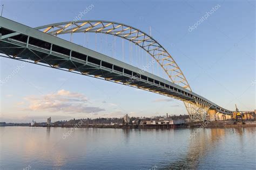
<instances>
[{"instance_id":1,"label":"calm river water reflecting the sky beneath the bridge","mask_svg":"<svg viewBox=\"0 0 256 170\"><path fill-rule=\"evenodd\" d=\"M0 169L255 169L255 133L0 127Z\"/></svg>"}]
</instances>

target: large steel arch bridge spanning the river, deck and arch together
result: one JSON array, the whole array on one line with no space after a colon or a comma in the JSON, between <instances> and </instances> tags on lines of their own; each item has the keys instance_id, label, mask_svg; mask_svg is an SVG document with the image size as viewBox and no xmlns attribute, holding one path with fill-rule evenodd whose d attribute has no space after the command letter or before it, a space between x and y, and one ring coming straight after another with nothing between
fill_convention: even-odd
<instances>
[{"instance_id":1,"label":"large steel arch bridge spanning the river, deck and arch together","mask_svg":"<svg viewBox=\"0 0 256 170\"><path fill-rule=\"evenodd\" d=\"M130 41L152 56L169 80L128 63L57 37L60 34L103 33ZM205 121L207 112L232 115L193 93L172 56L149 34L132 26L103 20L80 20L32 28L0 17L2 57L92 76L183 101L192 121ZM209 114L209 113L208 113ZM216 114L216 115L217 115Z\"/></svg>"}]
</instances>

